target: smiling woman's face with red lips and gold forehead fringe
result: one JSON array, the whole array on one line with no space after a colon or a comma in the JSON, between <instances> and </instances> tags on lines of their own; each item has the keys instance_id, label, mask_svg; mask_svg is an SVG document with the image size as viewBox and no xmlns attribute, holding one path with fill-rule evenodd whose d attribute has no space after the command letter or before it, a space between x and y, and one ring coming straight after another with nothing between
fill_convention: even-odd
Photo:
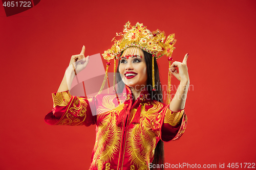
<instances>
[{"instance_id":1,"label":"smiling woman's face with red lips and gold forehead fringe","mask_svg":"<svg viewBox=\"0 0 256 170\"><path fill-rule=\"evenodd\" d=\"M127 48L121 56L119 72L122 81L127 86L133 87L136 90L145 87L147 83L147 70L143 51L138 47Z\"/></svg>"}]
</instances>

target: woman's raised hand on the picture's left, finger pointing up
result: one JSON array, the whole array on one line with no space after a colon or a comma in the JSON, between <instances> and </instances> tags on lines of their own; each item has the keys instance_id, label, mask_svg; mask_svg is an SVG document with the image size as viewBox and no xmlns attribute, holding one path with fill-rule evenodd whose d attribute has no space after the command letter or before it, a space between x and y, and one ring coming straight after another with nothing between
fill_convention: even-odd
<instances>
[{"instance_id":1,"label":"woman's raised hand on the picture's left, finger pointing up","mask_svg":"<svg viewBox=\"0 0 256 170\"><path fill-rule=\"evenodd\" d=\"M86 51L86 47L82 46L82 51L78 55L73 55L70 59L69 65L73 66L75 74L78 74L81 70L86 68L87 64L89 63L89 56L84 57L84 52Z\"/></svg>"}]
</instances>

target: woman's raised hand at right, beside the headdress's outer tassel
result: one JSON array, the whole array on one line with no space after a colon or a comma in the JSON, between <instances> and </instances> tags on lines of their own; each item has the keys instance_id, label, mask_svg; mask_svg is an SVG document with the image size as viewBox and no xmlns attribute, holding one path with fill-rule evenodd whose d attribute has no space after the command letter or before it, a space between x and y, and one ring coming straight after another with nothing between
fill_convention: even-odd
<instances>
[{"instance_id":1,"label":"woman's raised hand at right, beside the headdress's outer tassel","mask_svg":"<svg viewBox=\"0 0 256 170\"><path fill-rule=\"evenodd\" d=\"M169 68L169 71L172 73L172 75L174 75L179 81L189 82L188 71L187 71L187 57L188 57L188 53L185 55L182 63L175 61ZM179 72L177 72L176 67L178 67Z\"/></svg>"}]
</instances>

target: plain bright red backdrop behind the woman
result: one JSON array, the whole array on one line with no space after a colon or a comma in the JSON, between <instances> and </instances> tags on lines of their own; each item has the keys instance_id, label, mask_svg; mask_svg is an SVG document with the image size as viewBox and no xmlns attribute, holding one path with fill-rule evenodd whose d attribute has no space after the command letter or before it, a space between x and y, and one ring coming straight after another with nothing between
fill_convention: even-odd
<instances>
[{"instance_id":1,"label":"plain bright red backdrop behind the woman","mask_svg":"<svg viewBox=\"0 0 256 170\"><path fill-rule=\"evenodd\" d=\"M70 57L82 45L102 54L127 21L175 33L174 60L189 53L188 125L165 143L165 162L256 163L254 0L41 1L10 17L0 7L0 169L89 168L95 126L49 126L44 116Z\"/></svg>"}]
</instances>

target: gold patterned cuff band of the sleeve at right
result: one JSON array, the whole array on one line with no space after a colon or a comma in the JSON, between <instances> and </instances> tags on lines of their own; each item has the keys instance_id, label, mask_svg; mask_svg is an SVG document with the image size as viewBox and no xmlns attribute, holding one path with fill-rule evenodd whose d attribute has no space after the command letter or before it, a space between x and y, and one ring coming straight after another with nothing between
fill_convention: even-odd
<instances>
[{"instance_id":1,"label":"gold patterned cuff band of the sleeve at right","mask_svg":"<svg viewBox=\"0 0 256 170\"><path fill-rule=\"evenodd\" d=\"M176 126L181 122L183 113L184 113L184 110L181 110L179 112L172 112L168 108L166 110L166 114L164 117L164 123L170 124L172 126Z\"/></svg>"}]
</instances>

